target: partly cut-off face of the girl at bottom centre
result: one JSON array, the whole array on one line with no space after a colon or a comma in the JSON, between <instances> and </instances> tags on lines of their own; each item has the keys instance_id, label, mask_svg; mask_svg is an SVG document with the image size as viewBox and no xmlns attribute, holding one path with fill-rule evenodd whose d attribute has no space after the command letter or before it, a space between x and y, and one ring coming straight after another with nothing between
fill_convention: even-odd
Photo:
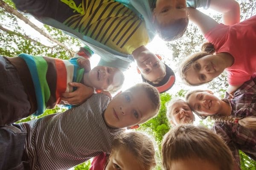
<instances>
[{"instance_id":1,"label":"partly cut-off face of the girl at bottom centre","mask_svg":"<svg viewBox=\"0 0 256 170\"><path fill-rule=\"evenodd\" d=\"M129 150L120 147L112 151L106 170L140 170L140 164Z\"/></svg>"}]
</instances>

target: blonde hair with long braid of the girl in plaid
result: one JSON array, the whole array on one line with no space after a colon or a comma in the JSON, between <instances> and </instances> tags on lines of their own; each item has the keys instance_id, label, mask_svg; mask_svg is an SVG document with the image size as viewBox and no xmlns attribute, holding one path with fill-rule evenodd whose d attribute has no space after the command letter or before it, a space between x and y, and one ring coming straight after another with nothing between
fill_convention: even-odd
<instances>
[{"instance_id":1,"label":"blonde hair with long braid of the girl in plaid","mask_svg":"<svg viewBox=\"0 0 256 170\"><path fill-rule=\"evenodd\" d=\"M189 96L191 96L191 94L197 93L197 92L203 92L203 91L204 90L189 91L188 93L186 93L186 96L185 96L186 101L188 101ZM196 115L198 115L198 117L200 117L201 119L206 119L209 116L210 119L215 120L215 122L239 123L239 125L241 125L243 127L256 129L256 117L255 116L247 116L247 117L243 118L243 117L233 117L233 116L221 116L221 115L218 115L218 113L216 113L214 115L203 115L203 114L195 111L195 109L193 109L193 108L191 108L191 110Z\"/></svg>"}]
</instances>

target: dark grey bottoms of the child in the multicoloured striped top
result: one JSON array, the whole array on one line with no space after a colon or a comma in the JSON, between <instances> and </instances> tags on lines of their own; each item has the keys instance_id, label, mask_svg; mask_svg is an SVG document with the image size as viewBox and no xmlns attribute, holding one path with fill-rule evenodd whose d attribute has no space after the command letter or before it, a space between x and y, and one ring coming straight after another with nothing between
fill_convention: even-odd
<instances>
[{"instance_id":1,"label":"dark grey bottoms of the child in the multicoloured striped top","mask_svg":"<svg viewBox=\"0 0 256 170\"><path fill-rule=\"evenodd\" d=\"M31 105L17 69L0 56L0 126L29 116Z\"/></svg>"}]
</instances>

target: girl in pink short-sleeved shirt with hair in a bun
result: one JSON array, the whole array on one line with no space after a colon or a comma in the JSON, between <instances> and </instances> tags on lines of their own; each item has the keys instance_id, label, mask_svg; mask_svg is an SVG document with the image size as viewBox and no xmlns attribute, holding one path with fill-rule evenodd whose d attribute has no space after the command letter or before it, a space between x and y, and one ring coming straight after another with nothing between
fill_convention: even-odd
<instances>
[{"instance_id":1,"label":"girl in pink short-sleeved shirt with hair in a bun","mask_svg":"<svg viewBox=\"0 0 256 170\"><path fill-rule=\"evenodd\" d=\"M232 94L256 71L256 16L233 26L218 24L207 15L189 9L189 17L195 22L209 43L203 51L192 55L180 66L180 77L189 85L201 85L210 82L227 71ZM216 52L216 54L213 54Z\"/></svg>"}]
</instances>

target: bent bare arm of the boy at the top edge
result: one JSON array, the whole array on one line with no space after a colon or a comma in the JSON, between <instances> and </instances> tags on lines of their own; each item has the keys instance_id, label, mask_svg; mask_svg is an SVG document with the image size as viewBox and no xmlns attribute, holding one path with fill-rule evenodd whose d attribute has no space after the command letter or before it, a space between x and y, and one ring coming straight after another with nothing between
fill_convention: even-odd
<instances>
[{"instance_id":1,"label":"bent bare arm of the boy at the top edge","mask_svg":"<svg viewBox=\"0 0 256 170\"><path fill-rule=\"evenodd\" d=\"M209 8L221 12L227 26L240 22L240 6L235 0L211 0Z\"/></svg>"}]
</instances>

